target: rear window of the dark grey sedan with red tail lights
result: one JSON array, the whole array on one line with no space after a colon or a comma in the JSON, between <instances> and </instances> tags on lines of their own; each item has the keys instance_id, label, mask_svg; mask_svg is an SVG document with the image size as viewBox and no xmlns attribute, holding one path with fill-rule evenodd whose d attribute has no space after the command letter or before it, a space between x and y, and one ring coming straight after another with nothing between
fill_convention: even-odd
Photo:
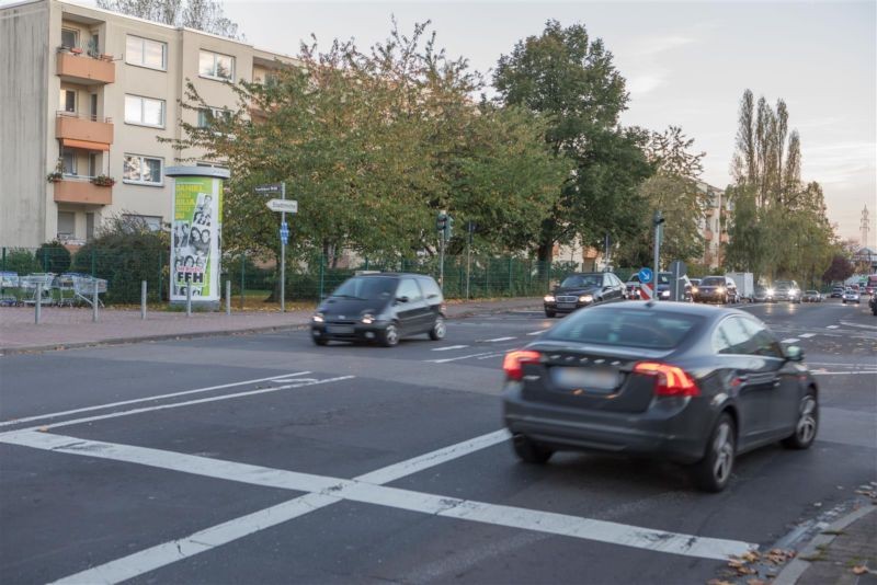
<instances>
[{"instance_id":1,"label":"rear window of the dark grey sedan with red tail lights","mask_svg":"<svg viewBox=\"0 0 877 585\"><path fill-rule=\"evenodd\" d=\"M581 310L551 329L543 339L594 345L672 349L677 347L703 317L660 310Z\"/></svg>"}]
</instances>

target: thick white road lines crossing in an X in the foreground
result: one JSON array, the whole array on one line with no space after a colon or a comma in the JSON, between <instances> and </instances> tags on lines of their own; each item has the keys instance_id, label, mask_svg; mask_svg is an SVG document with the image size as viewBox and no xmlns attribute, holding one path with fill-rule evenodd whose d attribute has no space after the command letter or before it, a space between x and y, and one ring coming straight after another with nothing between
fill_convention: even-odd
<instances>
[{"instance_id":1,"label":"thick white road lines crossing in an X in the foreground","mask_svg":"<svg viewBox=\"0 0 877 585\"><path fill-rule=\"evenodd\" d=\"M457 518L460 520L521 528L524 530L701 559L727 560L730 555L741 555L758 549L758 544L739 540L684 535L605 520L594 520L567 514L446 497L412 490L387 487L362 480L362 478L368 478L369 475L378 480L396 480L405 477L402 473L407 473L408 470L406 468L409 464L410 472L421 471L426 467L431 467L431 461L435 461L435 464L438 464L470 454L479 448L496 445L506 437L508 435L502 436L492 433L488 436L471 439L468 446L458 444L457 448L446 449L443 456L433 456L436 452L433 451L433 454L428 454L426 456L410 460L411 463L397 463L353 480L265 468L249 463L237 463L234 461L151 449L148 447L79 439L77 437L33 431L10 431L0 434L0 441L54 452L144 464L247 484L310 492L308 495L324 496L332 500L317 497L316 504L320 505L320 507L330 505L338 500L349 500L352 502ZM283 518L288 519L305 514L306 512L300 508L300 505L294 504L293 502L298 501L300 503L303 498L307 497L308 496L305 495L292 502L287 502L288 509L285 509L284 514L282 514ZM283 504L281 504L281 506L283 506ZM259 524L257 519L267 517L271 514L270 511L276 507L277 506L273 506L272 508L262 511L265 513L264 515L260 516L258 512L249 514L241 518L218 525L217 527L196 532L192 537L182 539L182 541L175 541L176 543L185 543L185 550L182 550L182 546L178 548L174 542L159 544L146 551L140 551L104 565L90 569L86 572L70 575L61 580L61 582L81 583L106 581L104 575L110 575L109 581L111 582L132 578L133 576L152 571L158 566L170 564L260 530L265 526ZM311 509L315 508L311 507ZM271 521L271 519L269 520ZM281 519L281 521L285 520ZM209 538L206 541L202 541L194 538L196 535L206 535ZM191 541L196 542L192 543ZM143 564L144 561L151 561L151 563L145 565Z\"/></svg>"}]
</instances>

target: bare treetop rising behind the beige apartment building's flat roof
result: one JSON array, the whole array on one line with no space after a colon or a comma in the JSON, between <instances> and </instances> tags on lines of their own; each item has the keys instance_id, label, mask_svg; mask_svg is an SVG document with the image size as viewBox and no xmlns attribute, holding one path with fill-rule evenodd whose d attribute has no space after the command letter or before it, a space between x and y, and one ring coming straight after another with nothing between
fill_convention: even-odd
<instances>
[{"instance_id":1,"label":"bare treetop rising behind the beige apartment building's flat roof","mask_svg":"<svg viewBox=\"0 0 877 585\"><path fill-rule=\"evenodd\" d=\"M98 8L242 41L238 25L215 0L98 0Z\"/></svg>"}]
</instances>

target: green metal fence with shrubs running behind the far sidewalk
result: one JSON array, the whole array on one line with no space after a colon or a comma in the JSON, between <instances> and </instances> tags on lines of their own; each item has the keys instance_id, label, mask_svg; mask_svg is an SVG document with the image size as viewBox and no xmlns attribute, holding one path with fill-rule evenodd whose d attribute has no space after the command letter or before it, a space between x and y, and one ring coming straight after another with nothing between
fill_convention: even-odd
<instances>
[{"instance_id":1,"label":"green metal fence with shrubs running behind the far sidewalk","mask_svg":"<svg viewBox=\"0 0 877 585\"><path fill-rule=\"evenodd\" d=\"M0 252L0 272L8 275L50 273L105 279L107 288L102 298L106 305L139 303L143 280L147 282L149 302L168 300L168 250L99 250L87 246L69 252L64 248L43 246L3 248ZM569 262L540 263L515 256L446 256L443 289L449 299L542 296L577 268L580 266ZM323 256L308 262L288 262L286 299L317 302L357 271L410 272L429 274L438 279L440 262L432 256L395 262L375 262L365 257L345 267L333 267ZM616 274L625 278L630 272L616 271ZM273 298L280 290L277 278L273 264L263 262L254 254L224 255L221 282L231 280L232 306L236 308L252 308ZM11 278L0 280L0 285L11 283ZM62 297L60 290L53 294L58 299ZM23 291L12 286L0 286L0 296L14 303L22 299Z\"/></svg>"}]
</instances>

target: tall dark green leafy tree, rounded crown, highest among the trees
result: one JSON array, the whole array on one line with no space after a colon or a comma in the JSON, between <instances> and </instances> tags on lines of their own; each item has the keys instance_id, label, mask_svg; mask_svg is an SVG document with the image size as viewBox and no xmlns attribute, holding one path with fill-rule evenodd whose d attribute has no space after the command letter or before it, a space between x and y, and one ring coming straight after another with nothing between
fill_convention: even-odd
<instances>
[{"instance_id":1,"label":"tall dark green leafy tree, rounded crown, highest among the trees","mask_svg":"<svg viewBox=\"0 0 877 585\"><path fill-rule=\"evenodd\" d=\"M543 220L538 257L580 236L582 243L635 237L641 225L638 184L651 174L639 129L617 128L626 107L625 80L612 53L585 27L548 21L542 35L520 41L497 66L499 101L545 116L545 140L576 168Z\"/></svg>"}]
</instances>

